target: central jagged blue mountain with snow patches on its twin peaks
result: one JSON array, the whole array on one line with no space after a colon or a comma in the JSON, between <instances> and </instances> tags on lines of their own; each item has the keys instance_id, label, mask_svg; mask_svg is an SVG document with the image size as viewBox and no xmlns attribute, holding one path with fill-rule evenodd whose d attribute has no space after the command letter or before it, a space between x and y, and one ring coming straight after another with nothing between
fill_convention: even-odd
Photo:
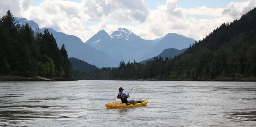
<instances>
[{"instance_id":1,"label":"central jagged blue mountain with snow patches on its twin peaks","mask_svg":"<svg viewBox=\"0 0 256 127\"><path fill-rule=\"evenodd\" d=\"M116 61L140 61L149 49L156 45L160 39L144 40L125 28L119 28L111 35L100 30L86 41L95 49L108 52Z\"/></svg>"}]
</instances>

